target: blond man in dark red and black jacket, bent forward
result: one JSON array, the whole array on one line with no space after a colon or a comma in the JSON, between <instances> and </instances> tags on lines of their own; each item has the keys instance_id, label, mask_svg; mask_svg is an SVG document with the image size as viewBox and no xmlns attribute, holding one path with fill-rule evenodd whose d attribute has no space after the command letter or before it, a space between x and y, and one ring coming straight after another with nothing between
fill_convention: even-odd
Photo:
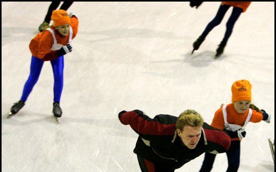
<instances>
[{"instance_id":1,"label":"blond man in dark red and black jacket, bent forward","mask_svg":"<svg viewBox=\"0 0 276 172\"><path fill-rule=\"evenodd\" d=\"M204 152L223 153L231 138L203 121L199 113L186 110L177 116L140 110L119 113L121 123L139 134L134 153L142 171L175 171Z\"/></svg>"}]
</instances>

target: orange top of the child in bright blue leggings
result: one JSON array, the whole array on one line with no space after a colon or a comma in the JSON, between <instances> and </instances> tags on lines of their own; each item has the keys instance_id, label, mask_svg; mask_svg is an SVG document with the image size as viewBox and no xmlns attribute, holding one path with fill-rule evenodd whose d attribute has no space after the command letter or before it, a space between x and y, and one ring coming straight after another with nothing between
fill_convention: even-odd
<instances>
[{"instance_id":1,"label":"orange top of the child in bright blue leggings","mask_svg":"<svg viewBox=\"0 0 276 172\"><path fill-rule=\"evenodd\" d=\"M72 17L70 19L71 19L70 26L72 27L72 30L73 30L72 39L74 39L78 32L79 21L78 21L78 19L76 19L74 17ZM50 29L52 29L54 31L54 35L55 35L57 44L60 44L63 46L68 44L68 42L70 40L70 34L67 34L66 36L61 37L60 34L58 34L58 31L56 29L54 29L53 27L51 27ZM51 49L52 49L53 45L54 45L53 35L49 30L46 29L43 32L37 34L33 39L31 39L30 44L29 44L29 49L30 49L31 54L34 57L43 59L45 57L45 55L52 52Z\"/></svg>"}]
</instances>

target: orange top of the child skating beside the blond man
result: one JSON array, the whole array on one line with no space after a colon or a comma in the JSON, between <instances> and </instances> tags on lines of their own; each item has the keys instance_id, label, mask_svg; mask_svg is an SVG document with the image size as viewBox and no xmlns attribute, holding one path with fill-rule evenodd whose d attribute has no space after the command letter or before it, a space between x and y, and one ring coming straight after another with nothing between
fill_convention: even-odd
<instances>
[{"instance_id":1,"label":"orange top of the child skating beside the blond man","mask_svg":"<svg viewBox=\"0 0 276 172\"><path fill-rule=\"evenodd\" d=\"M234 104L231 103L226 106L226 112L227 112L228 123L244 126L249 113L249 109L247 109L245 113L237 113L237 111L234 108ZM260 122L262 119L263 119L262 113L257 112L256 110L252 110L252 115L249 120L250 122L256 123L256 122ZM222 107L216 111L213 121L211 123L211 126L218 128L219 130L224 129L225 123L224 123ZM231 140L241 140L241 139L234 138Z\"/></svg>"}]
</instances>

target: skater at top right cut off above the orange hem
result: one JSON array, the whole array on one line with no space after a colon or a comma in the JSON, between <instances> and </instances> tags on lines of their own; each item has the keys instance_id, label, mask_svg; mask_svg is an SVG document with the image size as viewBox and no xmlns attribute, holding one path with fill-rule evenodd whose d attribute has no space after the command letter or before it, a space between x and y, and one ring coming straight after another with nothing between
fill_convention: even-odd
<instances>
[{"instance_id":1,"label":"skater at top right cut off above the orange hem","mask_svg":"<svg viewBox=\"0 0 276 172\"><path fill-rule=\"evenodd\" d=\"M215 18L206 26L203 33L194 41L193 51L198 50L198 48L200 47L202 42L205 40L205 37L208 35L208 33L214 27L218 26L221 23L221 21L222 21L224 15L225 15L225 13L227 12L227 10L230 7L233 7L232 14L231 14L230 18L228 19L228 21L226 23L226 32L225 32L224 37L223 37L222 41L220 42L220 45L217 49L216 56L217 57L220 56L223 53L224 48L227 44L227 41L228 41L232 31L233 31L233 27L234 27L235 22L237 21L237 19L240 16L241 13L246 12L246 10L247 10L248 6L250 5L250 3L251 2L222 2Z\"/></svg>"}]
</instances>

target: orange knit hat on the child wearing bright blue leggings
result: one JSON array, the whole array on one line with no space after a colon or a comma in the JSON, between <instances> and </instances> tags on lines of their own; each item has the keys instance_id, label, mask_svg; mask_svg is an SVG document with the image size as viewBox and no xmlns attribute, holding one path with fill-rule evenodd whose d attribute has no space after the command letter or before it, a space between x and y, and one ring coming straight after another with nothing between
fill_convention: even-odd
<instances>
[{"instance_id":1,"label":"orange knit hat on the child wearing bright blue leggings","mask_svg":"<svg viewBox=\"0 0 276 172\"><path fill-rule=\"evenodd\" d=\"M54 27L70 24L70 17L65 10L54 10L51 19L54 21Z\"/></svg>"}]
</instances>

